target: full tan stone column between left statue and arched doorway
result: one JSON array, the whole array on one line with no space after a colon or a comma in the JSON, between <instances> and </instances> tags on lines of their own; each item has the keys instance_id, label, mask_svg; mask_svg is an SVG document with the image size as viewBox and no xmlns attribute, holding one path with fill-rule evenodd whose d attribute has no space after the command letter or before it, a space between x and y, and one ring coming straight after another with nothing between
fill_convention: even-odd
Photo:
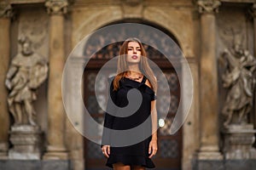
<instances>
[{"instance_id":1,"label":"full tan stone column between left statue and arched doorway","mask_svg":"<svg viewBox=\"0 0 256 170\"><path fill-rule=\"evenodd\" d=\"M64 144L65 112L61 98L61 77L64 67L64 14L66 0L49 0L45 6L50 14L49 27L49 84L47 152L44 159L67 159Z\"/></svg>"}]
</instances>

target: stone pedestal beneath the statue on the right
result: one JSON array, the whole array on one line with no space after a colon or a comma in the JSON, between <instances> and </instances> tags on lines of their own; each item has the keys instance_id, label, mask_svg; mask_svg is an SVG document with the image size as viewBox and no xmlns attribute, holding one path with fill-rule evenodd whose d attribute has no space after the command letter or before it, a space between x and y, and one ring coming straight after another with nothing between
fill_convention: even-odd
<instances>
[{"instance_id":1,"label":"stone pedestal beneath the statue on the right","mask_svg":"<svg viewBox=\"0 0 256 170\"><path fill-rule=\"evenodd\" d=\"M226 160L256 159L256 150L253 148L256 130L253 124L230 125L222 133Z\"/></svg>"}]
</instances>

